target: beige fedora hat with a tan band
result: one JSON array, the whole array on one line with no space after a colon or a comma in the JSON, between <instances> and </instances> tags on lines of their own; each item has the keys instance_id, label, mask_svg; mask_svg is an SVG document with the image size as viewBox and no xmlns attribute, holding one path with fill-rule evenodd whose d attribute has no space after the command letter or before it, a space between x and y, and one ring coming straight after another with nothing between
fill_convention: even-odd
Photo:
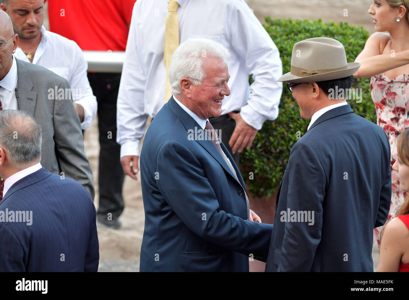
<instances>
[{"instance_id":1,"label":"beige fedora hat with a tan band","mask_svg":"<svg viewBox=\"0 0 409 300\"><path fill-rule=\"evenodd\" d=\"M317 82L351 76L359 62L347 62L344 45L332 38L309 38L294 44L291 71L277 81Z\"/></svg>"}]
</instances>

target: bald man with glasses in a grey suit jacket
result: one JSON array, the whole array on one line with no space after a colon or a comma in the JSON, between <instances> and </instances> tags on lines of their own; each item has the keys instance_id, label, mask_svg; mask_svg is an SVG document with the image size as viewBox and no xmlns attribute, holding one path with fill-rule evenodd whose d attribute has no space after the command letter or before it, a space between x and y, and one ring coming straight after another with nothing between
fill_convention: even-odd
<instances>
[{"instance_id":1,"label":"bald man with glasses in a grey suit jacket","mask_svg":"<svg viewBox=\"0 0 409 300\"><path fill-rule=\"evenodd\" d=\"M61 179L76 180L94 199L94 179L70 85L52 71L13 57L18 35L4 11L0 11L0 26L0 108L33 116L43 136L41 165Z\"/></svg>"}]
</instances>

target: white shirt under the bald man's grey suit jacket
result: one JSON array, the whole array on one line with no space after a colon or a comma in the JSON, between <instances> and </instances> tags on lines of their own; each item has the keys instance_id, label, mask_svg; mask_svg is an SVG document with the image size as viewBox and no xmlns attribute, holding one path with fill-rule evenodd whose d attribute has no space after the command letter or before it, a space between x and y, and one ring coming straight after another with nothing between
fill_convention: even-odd
<instances>
[{"instance_id":1,"label":"white shirt under the bald man's grey suit jacket","mask_svg":"<svg viewBox=\"0 0 409 300\"><path fill-rule=\"evenodd\" d=\"M13 59L13 64L9 73L0 80L0 100L3 109L15 109L18 110L18 102L16 99L16 86L17 86L17 63Z\"/></svg>"}]
</instances>

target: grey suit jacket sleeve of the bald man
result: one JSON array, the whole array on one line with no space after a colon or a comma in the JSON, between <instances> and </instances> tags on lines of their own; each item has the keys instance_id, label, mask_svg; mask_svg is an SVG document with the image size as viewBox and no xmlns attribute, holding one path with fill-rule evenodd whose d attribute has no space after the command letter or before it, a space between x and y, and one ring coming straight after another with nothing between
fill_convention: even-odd
<instances>
[{"instance_id":1,"label":"grey suit jacket sleeve of the bald man","mask_svg":"<svg viewBox=\"0 0 409 300\"><path fill-rule=\"evenodd\" d=\"M58 89L60 88L70 89L67 80L63 80ZM85 187L94 200L94 177L84 151L81 124L72 100L55 100L54 142L61 172Z\"/></svg>"}]
</instances>

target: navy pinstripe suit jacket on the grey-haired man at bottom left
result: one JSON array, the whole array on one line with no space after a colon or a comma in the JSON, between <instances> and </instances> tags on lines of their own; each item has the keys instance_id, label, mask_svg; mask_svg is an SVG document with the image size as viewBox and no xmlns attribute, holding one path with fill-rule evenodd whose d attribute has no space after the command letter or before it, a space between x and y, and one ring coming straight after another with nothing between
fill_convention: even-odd
<instances>
[{"instance_id":1,"label":"navy pinstripe suit jacket on the grey-haired man at bottom left","mask_svg":"<svg viewBox=\"0 0 409 300\"><path fill-rule=\"evenodd\" d=\"M78 182L41 168L10 187L0 211L32 211L32 224L0 222L0 271L98 270L95 207Z\"/></svg>"}]
</instances>

